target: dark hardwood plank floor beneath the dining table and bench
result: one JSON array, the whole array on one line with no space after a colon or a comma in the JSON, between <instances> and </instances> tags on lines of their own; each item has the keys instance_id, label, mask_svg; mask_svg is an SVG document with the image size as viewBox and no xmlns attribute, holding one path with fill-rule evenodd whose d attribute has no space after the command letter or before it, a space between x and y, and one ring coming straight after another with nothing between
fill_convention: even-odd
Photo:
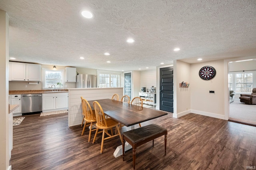
<instances>
[{"instance_id":1,"label":"dark hardwood plank floor beneath the dining table and bench","mask_svg":"<svg viewBox=\"0 0 256 170\"><path fill-rule=\"evenodd\" d=\"M132 150L115 158L119 137L104 142L101 135L88 143L88 129L68 127L68 115L39 114L26 117L13 127L12 170L130 170ZM142 123L156 123L168 130L167 152L164 137L137 148L136 169L156 170L246 170L256 166L256 127L188 114L178 119L172 114ZM126 131L122 127L122 131Z\"/></svg>"}]
</instances>

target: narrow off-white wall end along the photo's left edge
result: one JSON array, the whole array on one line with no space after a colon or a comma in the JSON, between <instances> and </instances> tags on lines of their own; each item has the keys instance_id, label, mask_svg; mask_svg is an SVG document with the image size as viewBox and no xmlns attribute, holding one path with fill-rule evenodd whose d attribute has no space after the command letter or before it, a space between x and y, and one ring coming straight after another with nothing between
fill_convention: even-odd
<instances>
[{"instance_id":1,"label":"narrow off-white wall end along the photo's left edge","mask_svg":"<svg viewBox=\"0 0 256 170\"><path fill-rule=\"evenodd\" d=\"M9 16L6 12L0 10L0 169L11 169L9 166ZM11 119L12 121L12 119ZM10 146L11 147L11 146Z\"/></svg>"}]
</instances>

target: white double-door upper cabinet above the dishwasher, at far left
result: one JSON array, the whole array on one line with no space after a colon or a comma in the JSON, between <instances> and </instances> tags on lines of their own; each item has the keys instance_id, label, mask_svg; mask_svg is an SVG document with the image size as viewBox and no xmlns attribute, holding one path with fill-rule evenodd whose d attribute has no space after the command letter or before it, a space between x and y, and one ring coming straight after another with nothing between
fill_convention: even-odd
<instances>
[{"instance_id":1,"label":"white double-door upper cabinet above the dishwasher, at far left","mask_svg":"<svg viewBox=\"0 0 256 170\"><path fill-rule=\"evenodd\" d=\"M9 81L41 81L41 65L9 62Z\"/></svg>"}]
</instances>

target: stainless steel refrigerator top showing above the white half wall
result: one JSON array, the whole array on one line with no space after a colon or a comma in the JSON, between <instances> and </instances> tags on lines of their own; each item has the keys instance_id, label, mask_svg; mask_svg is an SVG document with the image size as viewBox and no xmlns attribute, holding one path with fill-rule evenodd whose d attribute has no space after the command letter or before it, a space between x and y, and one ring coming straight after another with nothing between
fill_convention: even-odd
<instances>
[{"instance_id":1,"label":"stainless steel refrigerator top showing above the white half wall","mask_svg":"<svg viewBox=\"0 0 256 170\"><path fill-rule=\"evenodd\" d=\"M97 87L97 75L78 74L76 76L76 88Z\"/></svg>"}]
</instances>

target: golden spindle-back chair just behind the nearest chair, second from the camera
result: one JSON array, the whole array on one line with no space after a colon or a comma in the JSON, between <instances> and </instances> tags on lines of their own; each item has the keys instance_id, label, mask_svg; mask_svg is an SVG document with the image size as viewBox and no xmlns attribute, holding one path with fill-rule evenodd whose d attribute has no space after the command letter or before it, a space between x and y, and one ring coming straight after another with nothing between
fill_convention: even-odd
<instances>
[{"instance_id":1,"label":"golden spindle-back chair just behind the nearest chair, second from the camera","mask_svg":"<svg viewBox=\"0 0 256 170\"><path fill-rule=\"evenodd\" d=\"M84 135L85 127L90 126L89 138L88 138L88 142L90 142L92 131L96 130L96 129L92 130L92 127L96 128L96 126L94 126L94 124L96 123L96 115L95 115L95 111L92 110L92 107L90 106L88 101L86 99L84 99L82 96L81 96L81 100L82 100L82 110L83 110L82 113L84 115L84 119L83 119L84 120L84 128L83 128L81 135ZM86 125L86 123L90 123L90 124Z\"/></svg>"}]
</instances>

